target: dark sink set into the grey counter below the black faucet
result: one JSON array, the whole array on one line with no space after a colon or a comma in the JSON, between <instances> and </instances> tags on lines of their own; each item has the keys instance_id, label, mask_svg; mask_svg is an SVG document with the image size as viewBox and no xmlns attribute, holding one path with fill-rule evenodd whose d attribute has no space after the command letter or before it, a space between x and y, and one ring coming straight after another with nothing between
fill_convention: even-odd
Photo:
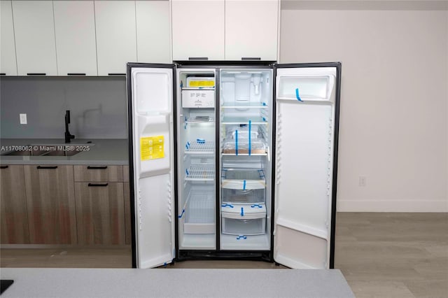
<instances>
[{"instance_id":1,"label":"dark sink set into the grey counter below the black faucet","mask_svg":"<svg viewBox=\"0 0 448 298\"><path fill-rule=\"evenodd\" d=\"M3 156L73 156L80 152L88 151L92 143L67 143L67 144L31 144L24 147L32 150L15 150L3 153Z\"/></svg>"}]
</instances>

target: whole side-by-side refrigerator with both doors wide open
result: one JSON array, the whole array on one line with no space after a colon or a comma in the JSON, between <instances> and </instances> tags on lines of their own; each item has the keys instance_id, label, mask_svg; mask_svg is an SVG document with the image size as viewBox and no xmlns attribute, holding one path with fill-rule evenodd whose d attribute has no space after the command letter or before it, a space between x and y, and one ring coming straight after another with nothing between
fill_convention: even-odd
<instances>
[{"instance_id":1,"label":"whole side-by-side refrigerator with both doors wide open","mask_svg":"<svg viewBox=\"0 0 448 298\"><path fill-rule=\"evenodd\" d=\"M127 64L133 267L334 264L341 64Z\"/></svg>"}]
</instances>

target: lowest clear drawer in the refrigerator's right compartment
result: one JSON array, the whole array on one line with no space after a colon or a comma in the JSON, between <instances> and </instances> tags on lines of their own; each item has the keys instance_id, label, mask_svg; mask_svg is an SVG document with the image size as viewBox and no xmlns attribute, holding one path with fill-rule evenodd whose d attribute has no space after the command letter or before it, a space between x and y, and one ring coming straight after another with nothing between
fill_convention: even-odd
<instances>
[{"instance_id":1,"label":"lowest clear drawer in the refrigerator's right compartment","mask_svg":"<svg viewBox=\"0 0 448 298\"><path fill-rule=\"evenodd\" d=\"M235 219L223 217L223 234L260 235L266 233L266 217L255 219Z\"/></svg>"}]
</instances>

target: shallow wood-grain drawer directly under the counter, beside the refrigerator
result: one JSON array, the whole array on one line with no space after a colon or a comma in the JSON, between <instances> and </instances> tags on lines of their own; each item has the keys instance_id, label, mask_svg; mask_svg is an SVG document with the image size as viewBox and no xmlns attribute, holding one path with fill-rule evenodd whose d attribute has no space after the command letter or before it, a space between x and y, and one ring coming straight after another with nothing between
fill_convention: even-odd
<instances>
[{"instance_id":1,"label":"shallow wood-grain drawer directly under the counter, beside the refrigerator","mask_svg":"<svg viewBox=\"0 0 448 298\"><path fill-rule=\"evenodd\" d=\"M73 171L76 182L123 182L123 166L74 166Z\"/></svg>"}]
</instances>

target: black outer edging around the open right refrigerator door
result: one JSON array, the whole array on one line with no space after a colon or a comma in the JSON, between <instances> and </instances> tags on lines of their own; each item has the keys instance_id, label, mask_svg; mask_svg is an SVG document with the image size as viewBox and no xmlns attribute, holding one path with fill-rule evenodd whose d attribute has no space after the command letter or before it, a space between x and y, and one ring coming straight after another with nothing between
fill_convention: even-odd
<instances>
[{"instance_id":1,"label":"black outer edging around the open right refrigerator door","mask_svg":"<svg viewBox=\"0 0 448 298\"><path fill-rule=\"evenodd\" d=\"M339 108L340 108L340 90L341 90L341 62L316 62L316 63L293 63L293 64L274 64L274 73L276 69L286 68L307 68L307 67L335 67L336 68L336 83L335 83L335 129L333 141L333 175L332 175L332 204L331 204L331 227L330 227L330 260L328 267L334 269L335 267L335 230L336 230L336 204L337 204L337 152L339 146ZM276 80L276 75L275 75ZM275 86L276 84L274 84ZM274 87L275 90L275 87ZM274 102L276 102L276 93L274 92ZM276 104L274 104L276 106ZM275 108L274 108L275 109ZM275 122L274 122L275 124ZM275 134L275 131L274 131ZM275 151L274 151L275 152ZM273 155L275 158L275 155ZM275 165L275 163L274 163ZM275 167L273 166L274 172ZM272 196L275 194L275 179L274 174L272 180ZM275 201L273 199L273 201ZM274 225L274 208L272 208L272 225ZM272 232L274 231L274 226ZM272 237L274 235L272 234ZM272 253L274 253L274 239L272 238Z\"/></svg>"}]
</instances>

